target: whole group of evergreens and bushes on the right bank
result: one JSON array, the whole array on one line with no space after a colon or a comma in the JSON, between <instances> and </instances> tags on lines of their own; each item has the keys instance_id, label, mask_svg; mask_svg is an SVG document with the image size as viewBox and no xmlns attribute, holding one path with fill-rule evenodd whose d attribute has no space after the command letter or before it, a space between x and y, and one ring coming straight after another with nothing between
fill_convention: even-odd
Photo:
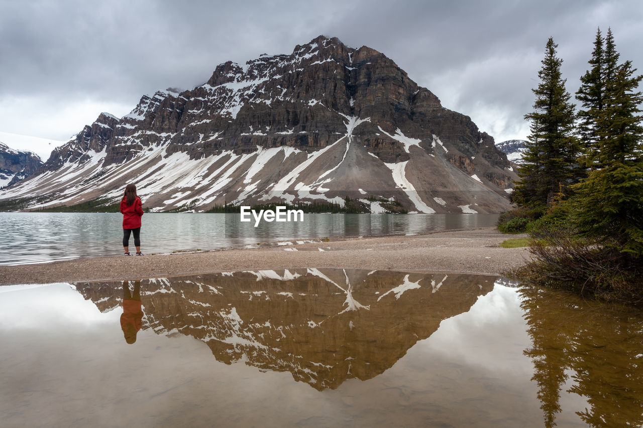
<instances>
[{"instance_id":1,"label":"whole group of evergreens and bushes on the right bank","mask_svg":"<svg viewBox=\"0 0 643 428\"><path fill-rule=\"evenodd\" d=\"M643 127L631 61L600 28L575 93L551 37L538 72L526 163L499 228L532 235L523 278L603 299L643 302Z\"/></svg>"}]
</instances>

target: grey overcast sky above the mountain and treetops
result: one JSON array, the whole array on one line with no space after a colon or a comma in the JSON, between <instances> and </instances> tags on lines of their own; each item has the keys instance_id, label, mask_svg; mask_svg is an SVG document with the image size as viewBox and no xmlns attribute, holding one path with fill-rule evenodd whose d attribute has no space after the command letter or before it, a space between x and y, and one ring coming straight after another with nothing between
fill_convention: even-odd
<instances>
[{"instance_id":1,"label":"grey overcast sky above the mountain and treetops","mask_svg":"<svg viewBox=\"0 0 643 428\"><path fill-rule=\"evenodd\" d=\"M496 141L524 139L548 37L573 94L599 26L643 69L640 0L0 0L0 132L66 140L142 94L323 34L381 51Z\"/></svg>"}]
</instances>

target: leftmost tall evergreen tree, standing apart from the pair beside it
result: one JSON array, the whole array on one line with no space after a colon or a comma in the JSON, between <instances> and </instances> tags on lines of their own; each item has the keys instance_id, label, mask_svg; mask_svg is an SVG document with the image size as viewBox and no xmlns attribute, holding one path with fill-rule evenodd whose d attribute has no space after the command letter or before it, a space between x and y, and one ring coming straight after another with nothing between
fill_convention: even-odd
<instances>
[{"instance_id":1,"label":"leftmost tall evergreen tree, standing apart from the pair beside it","mask_svg":"<svg viewBox=\"0 0 643 428\"><path fill-rule=\"evenodd\" d=\"M530 208L545 208L561 189L577 178L577 141L574 138L574 105L561 78L563 60L556 57L557 44L547 41L543 66L538 71L540 83L534 111L525 114L531 121L527 152L518 175L521 182L514 188L513 200Z\"/></svg>"}]
</instances>

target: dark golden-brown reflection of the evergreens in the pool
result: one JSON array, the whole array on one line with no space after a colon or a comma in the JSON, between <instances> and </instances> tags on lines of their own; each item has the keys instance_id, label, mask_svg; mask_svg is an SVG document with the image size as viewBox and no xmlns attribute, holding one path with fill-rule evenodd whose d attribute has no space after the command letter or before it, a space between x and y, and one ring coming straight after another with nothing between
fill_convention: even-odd
<instances>
[{"instance_id":1,"label":"dark golden-brown reflection of the evergreens in the pool","mask_svg":"<svg viewBox=\"0 0 643 428\"><path fill-rule=\"evenodd\" d=\"M565 292L520 289L534 380L546 427L556 426L561 389L587 400L576 414L592 427L643 424L643 317L633 308Z\"/></svg>"}]
</instances>

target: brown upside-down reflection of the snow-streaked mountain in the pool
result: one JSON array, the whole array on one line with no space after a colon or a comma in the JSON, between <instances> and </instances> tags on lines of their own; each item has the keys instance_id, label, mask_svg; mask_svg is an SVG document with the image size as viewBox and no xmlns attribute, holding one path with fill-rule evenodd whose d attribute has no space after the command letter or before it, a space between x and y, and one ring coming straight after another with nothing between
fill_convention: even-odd
<instances>
[{"instance_id":1,"label":"brown upside-down reflection of the snow-streaked mountain in the pool","mask_svg":"<svg viewBox=\"0 0 643 428\"><path fill-rule=\"evenodd\" d=\"M291 269L143 280L140 296L143 330L190 335L218 361L289 371L322 390L383 373L493 285L462 274ZM121 287L77 285L102 311L122 305Z\"/></svg>"}]
</instances>

